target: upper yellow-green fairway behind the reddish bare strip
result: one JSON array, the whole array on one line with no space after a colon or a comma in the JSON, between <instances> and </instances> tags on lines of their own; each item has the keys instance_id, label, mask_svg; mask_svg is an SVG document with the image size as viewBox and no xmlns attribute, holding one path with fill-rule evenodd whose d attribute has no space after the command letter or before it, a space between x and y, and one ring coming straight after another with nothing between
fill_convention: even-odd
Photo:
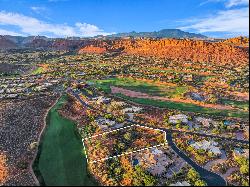
<instances>
[{"instance_id":1,"label":"upper yellow-green fairway behind the reddish bare strip","mask_svg":"<svg viewBox=\"0 0 250 187\"><path fill-rule=\"evenodd\" d=\"M110 86L122 87L125 89L147 93L152 96L181 97L188 91L186 86L157 85L146 81L132 78L111 78L106 80L92 80L95 86L101 88L106 93L111 93Z\"/></svg>"}]
</instances>

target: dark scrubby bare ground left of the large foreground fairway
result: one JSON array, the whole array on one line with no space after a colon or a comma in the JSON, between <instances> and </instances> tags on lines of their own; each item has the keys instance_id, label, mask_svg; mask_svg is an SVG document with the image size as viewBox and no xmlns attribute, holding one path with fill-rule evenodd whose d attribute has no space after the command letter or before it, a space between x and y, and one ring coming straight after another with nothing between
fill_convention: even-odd
<instances>
[{"instance_id":1,"label":"dark scrubby bare ground left of the large foreground fairway","mask_svg":"<svg viewBox=\"0 0 250 187\"><path fill-rule=\"evenodd\" d=\"M6 186L36 185L31 164L48 108L58 96L0 101L0 153L6 157Z\"/></svg>"}]
</instances>

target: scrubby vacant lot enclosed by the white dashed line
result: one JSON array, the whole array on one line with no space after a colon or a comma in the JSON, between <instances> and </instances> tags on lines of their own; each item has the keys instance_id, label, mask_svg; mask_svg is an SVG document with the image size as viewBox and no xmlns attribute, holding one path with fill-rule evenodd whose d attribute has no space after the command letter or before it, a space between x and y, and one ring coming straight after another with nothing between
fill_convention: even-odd
<instances>
[{"instance_id":1,"label":"scrubby vacant lot enclosed by the white dashed line","mask_svg":"<svg viewBox=\"0 0 250 187\"><path fill-rule=\"evenodd\" d=\"M90 161L138 151L165 143L164 133L143 127L129 127L101 134L85 141Z\"/></svg>"}]
</instances>

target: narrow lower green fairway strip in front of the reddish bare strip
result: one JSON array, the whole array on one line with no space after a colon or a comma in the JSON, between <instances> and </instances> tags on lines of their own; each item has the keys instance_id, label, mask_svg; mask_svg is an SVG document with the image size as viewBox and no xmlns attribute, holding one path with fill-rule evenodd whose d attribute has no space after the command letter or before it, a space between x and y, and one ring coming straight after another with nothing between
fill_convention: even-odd
<instances>
[{"instance_id":1,"label":"narrow lower green fairway strip in front of the reddish bare strip","mask_svg":"<svg viewBox=\"0 0 250 187\"><path fill-rule=\"evenodd\" d=\"M135 103L138 103L138 104L155 106L155 107L160 107L160 108L169 108L169 109L216 115L216 116L238 117L238 118L249 117L248 112L242 112L242 111L236 111L236 110L235 111L218 110L218 109L212 109L212 108L205 108L205 107L197 106L194 104L188 104L188 103L176 103L176 102L171 102L171 101L159 101L159 100L153 100L153 99L132 98L132 97L125 96L123 94L116 94L116 95L126 100L130 100Z\"/></svg>"}]
</instances>

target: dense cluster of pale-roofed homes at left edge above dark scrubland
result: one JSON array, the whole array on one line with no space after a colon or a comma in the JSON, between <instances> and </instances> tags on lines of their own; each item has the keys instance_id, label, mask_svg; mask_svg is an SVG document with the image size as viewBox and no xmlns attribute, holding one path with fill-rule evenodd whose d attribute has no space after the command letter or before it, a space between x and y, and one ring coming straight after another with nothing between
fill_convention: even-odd
<instances>
[{"instance_id":1,"label":"dense cluster of pale-roofed homes at left edge above dark scrubland","mask_svg":"<svg viewBox=\"0 0 250 187\"><path fill-rule=\"evenodd\" d=\"M43 75L0 79L0 99L22 98L48 91L60 82Z\"/></svg>"}]
</instances>

